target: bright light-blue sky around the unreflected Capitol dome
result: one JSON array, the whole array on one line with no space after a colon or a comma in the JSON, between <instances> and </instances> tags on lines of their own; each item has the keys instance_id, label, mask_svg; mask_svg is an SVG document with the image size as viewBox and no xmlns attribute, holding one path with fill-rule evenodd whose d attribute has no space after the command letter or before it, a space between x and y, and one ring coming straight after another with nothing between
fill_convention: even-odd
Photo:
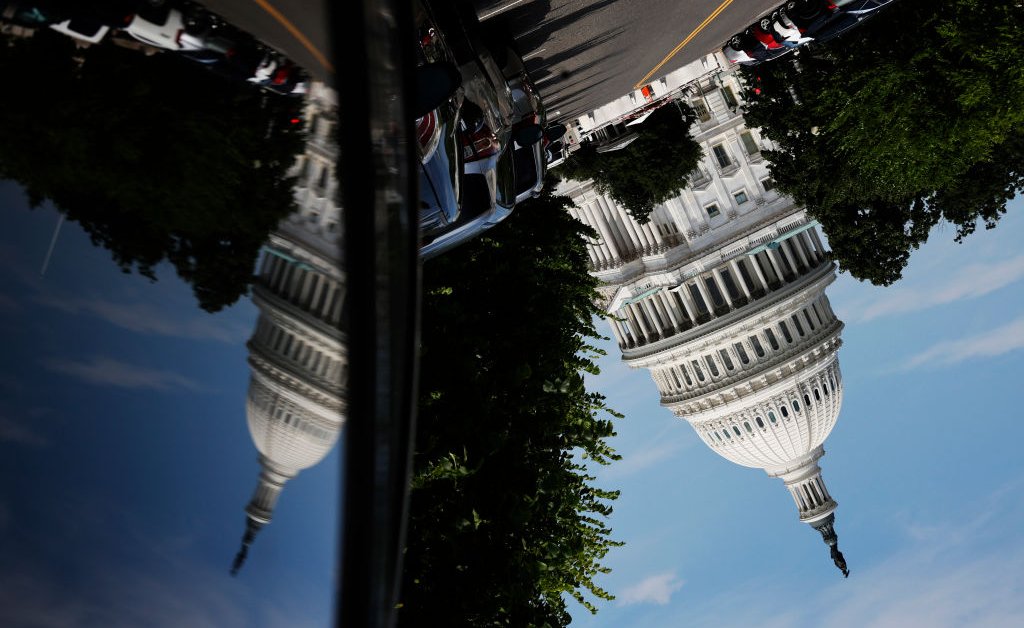
<instances>
[{"instance_id":1,"label":"bright light-blue sky around the unreflected Capitol dome","mask_svg":"<svg viewBox=\"0 0 1024 628\"><path fill-rule=\"evenodd\" d=\"M782 484L707 449L643 370L592 385L627 415L598 484L617 599L581 626L1024 625L1024 200L964 244L939 227L889 288L839 276L845 396L821 468L849 580Z\"/></svg>"}]
</instances>

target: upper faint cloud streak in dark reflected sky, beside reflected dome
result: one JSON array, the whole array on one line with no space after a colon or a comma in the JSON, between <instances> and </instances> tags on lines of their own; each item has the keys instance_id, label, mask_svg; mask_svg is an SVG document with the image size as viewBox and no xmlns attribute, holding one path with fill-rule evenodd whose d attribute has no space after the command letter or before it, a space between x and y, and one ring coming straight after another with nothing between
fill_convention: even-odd
<instances>
[{"instance_id":1,"label":"upper faint cloud streak in dark reflected sky, beside reflected dome","mask_svg":"<svg viewBox=\"0 0 1024 628\"><path fill-rule=\"evenodd\" d=\"M41 305L70 313L91 315L116 327L141 334L238 343L245 340L250 331L241 323L230 325L212 315L197 316L190 312L182 316L167 307L145 302L60 298L52 295L37 295L34 300Z\"/></svg>"}]
</instances>

